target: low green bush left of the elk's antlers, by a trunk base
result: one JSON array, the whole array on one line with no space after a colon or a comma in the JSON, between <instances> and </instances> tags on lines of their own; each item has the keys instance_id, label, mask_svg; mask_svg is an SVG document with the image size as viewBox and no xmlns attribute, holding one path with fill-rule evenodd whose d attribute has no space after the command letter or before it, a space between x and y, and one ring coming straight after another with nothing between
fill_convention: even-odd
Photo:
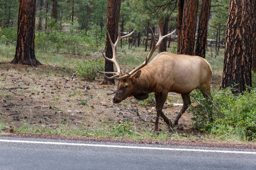
<instances>
[{"instance_id":1,"label":"low green bush left of the elk's antlers, by a trunk base","mask_svg":"<svg viewBox=\"0 0 256 170\"><path fill-rule=\"evenodd\" d=\"M95 70L97 66L98 70L104 70L104 62L101 60L96 61L83 61L78 63L75 69L78 70L77 75L83 76L86 80L92 81L100 74Z\"/></svg>"}]
</instances>

